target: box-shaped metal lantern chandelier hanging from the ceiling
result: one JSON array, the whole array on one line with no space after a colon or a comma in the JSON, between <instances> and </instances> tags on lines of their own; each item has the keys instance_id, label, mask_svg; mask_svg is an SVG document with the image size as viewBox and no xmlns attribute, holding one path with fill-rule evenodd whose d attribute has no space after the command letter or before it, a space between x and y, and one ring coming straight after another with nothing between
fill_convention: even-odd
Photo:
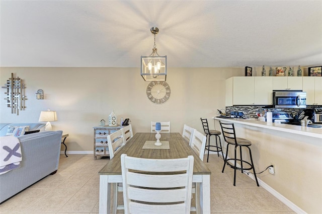
<instances>
[{"instance_id":1,"label":"box-shaped metal lantern chandelier hanging from the ceiling","mask_svg":"<svg viewBox=\"0 0 322 214\"><path fill-rule=\"evenodd\" d=\"M160 56L155 45L155 34L159 32L157 27L150 29L154 34L154 45L149 56L141 56L141 76L144 81L167 80L167 56Z\"/></svg>"}]
</instances>

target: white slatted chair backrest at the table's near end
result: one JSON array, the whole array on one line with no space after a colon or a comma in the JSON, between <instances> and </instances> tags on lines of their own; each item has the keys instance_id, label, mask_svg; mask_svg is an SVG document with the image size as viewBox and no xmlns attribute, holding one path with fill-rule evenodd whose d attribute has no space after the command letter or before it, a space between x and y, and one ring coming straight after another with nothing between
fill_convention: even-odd
<instances>
[{"instance_id":1,"label":"white slatted chair backrest at the table's near end","mask_svg":"<svg viewBox=\"0 0 322 214\"><path fill-rule=\"evenodd\" d=\"M143 159L121 155L124 211L190 213L193 156Z\"/></svg>"}]
</instances>

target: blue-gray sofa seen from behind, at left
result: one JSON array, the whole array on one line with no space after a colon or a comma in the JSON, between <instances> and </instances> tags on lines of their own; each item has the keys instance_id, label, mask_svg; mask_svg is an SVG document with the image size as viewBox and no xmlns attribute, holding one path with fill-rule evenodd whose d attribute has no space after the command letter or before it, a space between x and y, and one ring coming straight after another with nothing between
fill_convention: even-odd
<instances>
[{"instance_id":1,"label":"blue-gray sofa seen from behind, at left","mask_svg":"<svg viewBox=\"0 0 322 214\"><path fill-rule=\"evenodd\" d=\"M61 135L62 131L41 131L18 137L22 153L21 167L0 175L0 203L47 175L56 173Z\"/></svg>"}]
</instances>

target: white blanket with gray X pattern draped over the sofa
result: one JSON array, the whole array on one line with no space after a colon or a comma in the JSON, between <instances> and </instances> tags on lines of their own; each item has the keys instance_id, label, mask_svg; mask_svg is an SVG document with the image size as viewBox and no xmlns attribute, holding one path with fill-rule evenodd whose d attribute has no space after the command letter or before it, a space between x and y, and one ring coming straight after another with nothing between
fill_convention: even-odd
<instances>
[{"instance_id":1,"label":"white blanket with gray X pattern draped over the sofa","mask_svg":"<svg viewBox=\"0 0 322 214\"><path fill-rule=\"evenodd\" d=\"M0 175L20 167L20 142L14 136L0 137Z\"/></svg>"}]
</instances>

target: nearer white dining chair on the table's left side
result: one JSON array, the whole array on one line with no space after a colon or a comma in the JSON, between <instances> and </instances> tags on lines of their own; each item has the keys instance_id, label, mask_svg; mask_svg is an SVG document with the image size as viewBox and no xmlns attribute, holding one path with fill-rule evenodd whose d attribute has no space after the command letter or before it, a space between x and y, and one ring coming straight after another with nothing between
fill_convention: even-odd
<instances>
[{"instance_id":1,"label":"nearer white dining chair on the table's left side","mask_svg":"<svg viewBox=\"0 0 322 214\"><path fill-rule=\"evenodd\" d=\"M125 145L123 128L107 135L107 144L109 147L110 159ZM124 209L124 205L117 205L118 192L123 192L122 183L114 183L113 186L113 214L116 214L117 209Z\"/></svg>"}]
</instances>

